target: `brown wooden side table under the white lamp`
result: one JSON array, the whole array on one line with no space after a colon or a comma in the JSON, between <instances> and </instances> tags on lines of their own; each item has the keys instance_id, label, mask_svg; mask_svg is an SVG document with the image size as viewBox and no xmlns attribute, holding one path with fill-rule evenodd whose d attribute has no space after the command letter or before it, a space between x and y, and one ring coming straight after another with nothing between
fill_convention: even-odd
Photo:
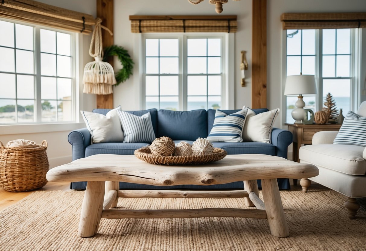
<instances>
[{"instance_id":1,"label":"brown wooden side table under the white lamp","mask_svg":"<svg viewBox=\"0 0 366 251\"><path fill-rule=\"evenodd\" d=\"M301 144L311 145L311 140L315 132L320 131L339 131L340 124L324 124L324 125L305 125L305 124L288 124L288 130L294 135L294 143L292 144L292 161L300 162L299 149Z\"/></svg>"}]
</instances>

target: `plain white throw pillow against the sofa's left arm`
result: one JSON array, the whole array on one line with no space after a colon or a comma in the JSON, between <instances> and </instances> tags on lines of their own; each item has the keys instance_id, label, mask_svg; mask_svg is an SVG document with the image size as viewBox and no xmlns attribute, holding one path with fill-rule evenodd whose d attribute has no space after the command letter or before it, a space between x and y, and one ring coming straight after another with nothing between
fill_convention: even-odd
<instances>
[{"instance_id":1,"label":"plain white throw pillow against the sofa's left arm","mask_svg":"<svg viewBox=\"0 0 366 251\"><path fill-rule=\"evenodd\" d=\"M91 143L123 142L123 131L117 114L121 106L110 110L104 116L100 113L80 111L91 134Z\"/></svg>"}]
</instances>

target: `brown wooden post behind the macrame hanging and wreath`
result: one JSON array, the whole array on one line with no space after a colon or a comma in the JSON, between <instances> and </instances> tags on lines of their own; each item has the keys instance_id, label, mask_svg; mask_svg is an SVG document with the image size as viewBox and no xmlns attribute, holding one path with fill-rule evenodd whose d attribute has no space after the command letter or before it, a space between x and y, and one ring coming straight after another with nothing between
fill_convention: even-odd
<instances>
[{"instance_id":1,"label":"brown wooden post behind the macrame hanging and wreath","mask_svg":"<svg viewBox=\"0 0 366 251\"><path fill-rule=\"evenodd\" d=\"M113 0L97 0L97 16L102 19L102 25L113 33ZM102 29L103 47L113 45L113 36ZM108 60L113 67L113 58ZM113 93L97 95L97 108L113 109Z\"/></svg>"}]
</instances>

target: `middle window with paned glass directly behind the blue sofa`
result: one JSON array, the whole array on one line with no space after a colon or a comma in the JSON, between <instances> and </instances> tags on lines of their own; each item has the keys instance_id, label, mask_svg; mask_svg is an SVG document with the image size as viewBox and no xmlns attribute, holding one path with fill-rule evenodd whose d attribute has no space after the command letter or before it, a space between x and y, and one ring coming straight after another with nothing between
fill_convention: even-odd
<instances>
[{"instance_id":1,"label":"middle window with paned glass directly behind the blue sofa","mask_svg":"<svg viewBox=\"0 0 366 251\"><path fill-rule=\"evenodd\" d=\"M223 37L143 37L145 109L217 109L223 105Z\"/></svg>"}]
</instances>

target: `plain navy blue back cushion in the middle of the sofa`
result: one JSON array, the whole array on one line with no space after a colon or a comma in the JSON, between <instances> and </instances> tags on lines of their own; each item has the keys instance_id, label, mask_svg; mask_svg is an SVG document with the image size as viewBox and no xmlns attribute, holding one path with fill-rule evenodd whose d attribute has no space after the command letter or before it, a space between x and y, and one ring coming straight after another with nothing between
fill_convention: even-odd
<instances>
[{"instance_id":1,"label":"plain navy blue back cushion in the middle of the sofa","mask_svg":"<svg viewBox=\"0 0 366 251\"><path fill-rule=\"evenodd\" d=\"M195 141L207 137L207 111L188 112L158 110L157 138L168 136L172 140L185 139Z\"/></svg>"}]
</instances>

